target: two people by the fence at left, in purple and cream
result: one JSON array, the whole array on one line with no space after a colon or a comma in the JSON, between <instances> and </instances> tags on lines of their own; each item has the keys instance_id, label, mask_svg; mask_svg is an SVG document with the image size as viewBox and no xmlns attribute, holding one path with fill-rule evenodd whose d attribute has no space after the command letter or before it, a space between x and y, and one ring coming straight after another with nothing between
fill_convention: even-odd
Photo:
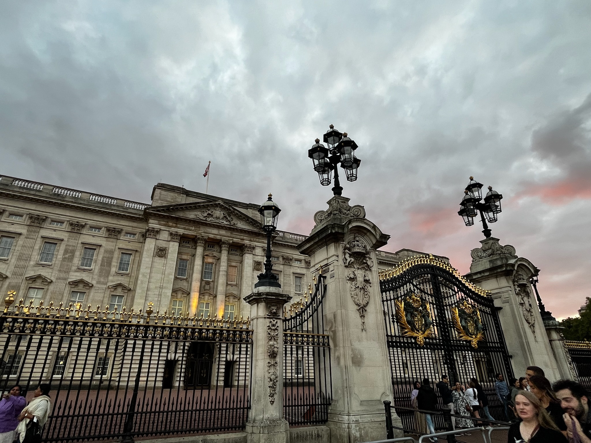
<instances>
[{"instance_id":1,"label":"two people by the fence at left, in purple and cream","mask_svg":"<svg viewBox=\"0 0 591 443\"><path fill-rule=\"evenodd\" d=\"M41 383L28 403L20 385L13 386L0 400L0 443L39 443L41 429L50 409L50 386Z\"/></svg>"}]
</instances>

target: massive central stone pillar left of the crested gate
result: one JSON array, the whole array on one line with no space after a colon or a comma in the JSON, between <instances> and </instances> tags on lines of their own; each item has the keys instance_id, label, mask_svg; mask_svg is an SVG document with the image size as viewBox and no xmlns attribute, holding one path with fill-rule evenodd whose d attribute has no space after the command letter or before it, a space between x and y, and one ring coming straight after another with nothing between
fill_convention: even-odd
<instances>
[{"instance_id":1,"label":"massive central stone pillar left of the crested gate","mask_svg":"<svg viewBox=\"0 0 591 443\"><path fill-rule=\"evenodd\" d=\"M330 337L333 399L329 406L333 443L386 438L384 400L392 401L392 375L379 290L375 249L389 236L365 218L349 198L329 200L314 215L316 226L298 245L311 268L327 275L325 333ZM392 417L401 426L397 416Z\"/></svg>"}]
</instances>

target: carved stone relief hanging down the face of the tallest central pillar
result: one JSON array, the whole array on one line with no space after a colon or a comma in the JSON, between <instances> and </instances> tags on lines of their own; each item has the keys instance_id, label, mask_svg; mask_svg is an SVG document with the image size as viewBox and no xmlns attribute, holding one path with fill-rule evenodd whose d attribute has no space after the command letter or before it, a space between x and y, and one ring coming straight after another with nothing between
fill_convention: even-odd
<instances>
[{"instance_id":1,"label":"carved stone relief hanging down the face of the tallest central pillar","mask_svg":"<svg viewBox=\"0 0 591 443\"><path fill-rule=\"evenodd\" d=\"M343 246L343 263L345 268L350 269L350 272L346 274L346 279L349 281L349 292L361 318L361 330L365 331L365 311L369 303L369 288L371 287L369 271L371 271L372 263L369 248L357 234Z\"/></svg>"}]
</instances>

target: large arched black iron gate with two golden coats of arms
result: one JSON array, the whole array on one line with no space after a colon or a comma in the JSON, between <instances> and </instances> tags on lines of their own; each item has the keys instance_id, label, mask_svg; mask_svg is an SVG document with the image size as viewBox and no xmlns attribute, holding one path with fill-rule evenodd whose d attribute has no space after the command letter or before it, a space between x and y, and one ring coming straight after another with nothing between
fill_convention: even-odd
<instances>
[{"instance_id":1,"label":"large arched black iron gate with two golden coats of arms","mask_svg":"<svg viewBox=\"0 0 591 443\"><path fill-rule=\"evenodd\" d=\"M418 256L380 273L380 289L394 388L393 406L410 408L413 382L450 384L472 377L485 390L492 415L503 417L497 373L513 376L493 300L443 260ZM467 387L467 386L466 386ZM414 414L399 411L405 428Z\"/></svg>"}]
</instances>

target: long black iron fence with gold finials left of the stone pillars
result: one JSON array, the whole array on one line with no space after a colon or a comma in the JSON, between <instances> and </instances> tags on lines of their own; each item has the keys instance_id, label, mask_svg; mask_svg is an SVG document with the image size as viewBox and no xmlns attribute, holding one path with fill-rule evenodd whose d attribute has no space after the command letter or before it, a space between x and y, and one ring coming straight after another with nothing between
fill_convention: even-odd
<instances>
[{"instance_id":1,"label":"long black iron fence with gold finials left of the stone pillars","mask_svg":"<svg viewBox=\"0 0 591 443\"><path fill-rule=\"evenodd\" d=\"M0 388L50 383L47 442L243 429L249 321L24 306L0 316Z\"/></svg>"}]
</instances>

